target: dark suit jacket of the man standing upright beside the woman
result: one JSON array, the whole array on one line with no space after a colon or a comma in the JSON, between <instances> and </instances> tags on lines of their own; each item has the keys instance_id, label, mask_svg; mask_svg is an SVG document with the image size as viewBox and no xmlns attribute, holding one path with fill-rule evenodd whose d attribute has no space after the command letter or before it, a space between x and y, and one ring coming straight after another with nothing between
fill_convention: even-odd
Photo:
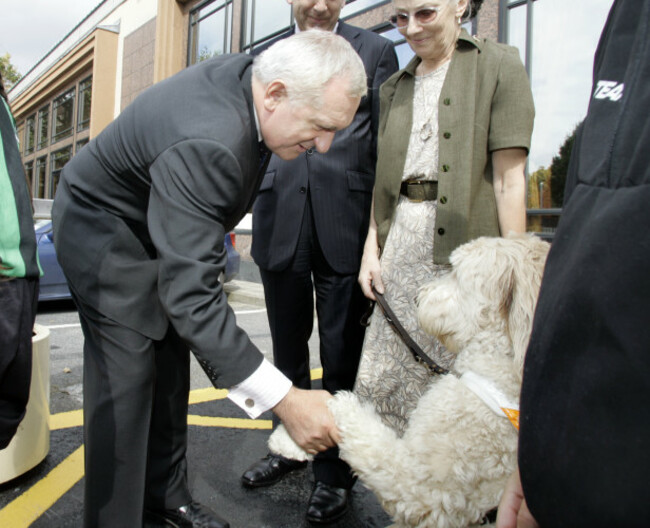
<instances>
[{"instance_id":1,"label":"dark suit jacket of the man standing upright beside the woman","mask_svg":"<svg viewBox=\"0 0 650 528\"><path fill-rule=\"evenodd\" d=\"M327 262L338 273L359 270L375 183L379 86L398 65L388 39L341 21L337 33L363 61L368 95L352 124L337 132L326 154L314 150L292 161L271 158L253 209L251 254L263 269L280 271L289 265L309 190L314 226ZM292 28L254 53L293 34Z\"/></svg>"}]
</instances>

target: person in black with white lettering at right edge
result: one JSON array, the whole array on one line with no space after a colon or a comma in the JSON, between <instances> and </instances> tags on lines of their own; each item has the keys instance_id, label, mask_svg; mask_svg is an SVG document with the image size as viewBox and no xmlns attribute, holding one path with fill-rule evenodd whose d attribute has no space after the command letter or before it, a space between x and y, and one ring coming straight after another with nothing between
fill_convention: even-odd
<instances>
[{"instance_id":1,"label":"person in black with white lettering at right edge","mask_svg":"<svg viewBox=\"0 0 650 528\"><path fill-rule=\"evenodd\" d=\"M521 391L500 528L650 526L650 0L595 55Z\"/></svg>"}]
</instances>

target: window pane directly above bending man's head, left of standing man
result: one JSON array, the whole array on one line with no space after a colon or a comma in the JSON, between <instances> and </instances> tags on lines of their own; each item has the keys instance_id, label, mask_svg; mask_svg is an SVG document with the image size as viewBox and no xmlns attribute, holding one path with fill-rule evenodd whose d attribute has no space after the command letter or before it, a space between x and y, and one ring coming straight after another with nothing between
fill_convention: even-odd
<instances>
[{"instance_id":1,"label":"window pane directly above bending man's head, left of standing man","mask_svg":"<svg viewBox=\"0 0 650 528\"><path fill-rule=\"evenodd\" d=\"M246 0L244 50L259 46L289 28L293 22L286 0Z\"/></svg>"}]
</instances>

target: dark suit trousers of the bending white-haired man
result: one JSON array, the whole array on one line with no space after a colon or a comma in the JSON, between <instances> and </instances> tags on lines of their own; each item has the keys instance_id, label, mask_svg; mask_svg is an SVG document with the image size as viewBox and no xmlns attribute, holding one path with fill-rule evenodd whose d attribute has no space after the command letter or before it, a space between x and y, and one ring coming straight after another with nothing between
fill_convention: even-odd
<instances>
[{"instance_id":1,"label":"dark suit trousers of the bending white-haired man","mask_svg":"<svg viewBox=\"0 0 650 528\"><path fill-rule=\"evenodd\" d=\"M86 527L142 526L190 502L185 453L189 350L152 341L79 302L84 343Z\"/></svg>"}]
</instances>

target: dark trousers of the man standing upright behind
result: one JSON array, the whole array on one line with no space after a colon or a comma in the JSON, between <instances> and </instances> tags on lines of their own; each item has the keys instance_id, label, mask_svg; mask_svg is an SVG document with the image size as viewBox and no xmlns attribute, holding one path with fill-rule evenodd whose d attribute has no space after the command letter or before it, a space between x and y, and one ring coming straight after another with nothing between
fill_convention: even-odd
<instances>
[{"instance_id":1,"label":"dark trousers of the man standing upright behind","mask_svg":"<svg viewBox=\"0 0 650 528\"><path fill-rule=\"evenodd\" d=\"M314 324L314 290L323 366L323 388L332 393L352 390L365 328L360 319L367 302L357 274L340 275L327 264L314 228L310 199L294 258L275 272L260 269L268 311L275 365L301 389L311 388L309 345ZM314 477L333 486L354 483L338 448L316 456Z\"/></svg>"}]
</instances>

